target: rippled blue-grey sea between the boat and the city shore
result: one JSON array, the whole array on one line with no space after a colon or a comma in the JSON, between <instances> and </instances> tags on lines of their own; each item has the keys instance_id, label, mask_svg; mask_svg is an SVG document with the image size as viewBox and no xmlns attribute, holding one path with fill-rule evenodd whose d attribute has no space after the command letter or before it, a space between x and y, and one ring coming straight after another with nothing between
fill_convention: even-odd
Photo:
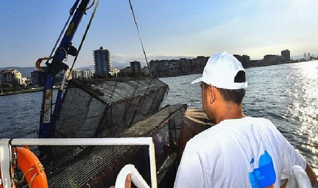
<instances>
[{"instance_id":1,"label":"rippled blue-grey sea between the boat and the city shore","mask_svg":"<svg viewBox=\"0 0 318 188\"><path fill-rule=\"evenodd\" d=\"M170 87L163 105L202 108L200 74L161 78ZM271 120L318 173L318 61L247 69L248 116ZM37 138L42 93L0 96L0 138Z\"/></svg>"}]
</instances>

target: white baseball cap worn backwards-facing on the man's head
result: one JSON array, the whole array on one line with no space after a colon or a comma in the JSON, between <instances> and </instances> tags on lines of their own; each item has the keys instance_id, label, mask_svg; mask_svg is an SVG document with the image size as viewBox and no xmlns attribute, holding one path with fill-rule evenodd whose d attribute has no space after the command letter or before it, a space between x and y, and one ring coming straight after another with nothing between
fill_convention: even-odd
<instances>
[{"instance_id":1,"label":"white baseball cap worn backwards-facing on the man's head","mask_svg":"<svg viewBox=\"0 0 318 188\"><path fill-rule=\"evenodd\" d=\"M226 51L216 53L208 59L202 77L194 80L191 84L204 82L216 88L229 90L247 88L247 81L242 83L234 82L234 78L239 71L245 72L241 62L232 54Z\"/></svg>"}]
</instances>

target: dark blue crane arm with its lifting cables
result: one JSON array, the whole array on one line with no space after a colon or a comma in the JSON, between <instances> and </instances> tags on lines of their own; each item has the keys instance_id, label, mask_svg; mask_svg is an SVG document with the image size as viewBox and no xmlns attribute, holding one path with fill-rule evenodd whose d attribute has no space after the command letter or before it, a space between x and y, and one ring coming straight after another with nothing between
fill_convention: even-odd
<instances>
[{"instance_id":1,"label":"dark blue crane arm with its lifting cables","mask_svg":"<svg viewBox=\"0 0 318 188\"><path fill-rule=\"evenodd\" d=\"M70 68L70 71L72 70L74 63L77 59L77 55L83 45L83 42L85 40L86 34L89 30L90 24L94 18L95 12L98 8L99 5L99 0L95 3L95 0L89 4L90 0L75 0L73 6L69 10L69 17L64 25L64 28L55 44L53 47L51 54L49 57L42 57L39 58L36 61L36 67L40 71L44 71L44 87L43 87L43 94L42 94L42 106L41 106L41 113L40 113L40 126L39 126L39 138L52 138L54 137L54 128L56 124L56 120L59 118L60 115L60 110L61 110L61 105L62 105L62 99L64 95L64 82L66 80L66 70L69 68L67 64L64 63L64 59L67 57L67 55L74 56L74 61L73 64ZM150 67L148 64L146 52L144 50L142 40L140 37L137 21L133 12L132 4L131 1L128 0L129 6L131 9L131 13L133 16L134 24L136 26L136 30L138 33L139 41L142 47L142 52L144 54L148 70L150 72L151 76L151 71ZM78 28L78 25L83 17L84 14L86 14L86 10L91 8L95 4L95 8L91 14L91 18L87 24L85 33L82 37L81 43L78 47L78 49L74 46L72 46L72 39L76 33L76 30ZM70 20L71 19L71 20ZM70 20L70 22L69 22ZM65 28L67 26L66 31L64 32ZM61 37L63 35L63 38L61 40L61 43L59 47L57 47L57 44L59 43ZM57 47L57 48L56 48ZM55 50L56 49L56 50ZM55 51L55 52L54 52ZM54 52L54 55L53 55ZM53 56L52 56L53 55ZM43 60L46 60L46 67L41 67L40 64ZM51 63L49 62L51 60ZM64 70L64 80L61 84L61 88L58 90L58 94L56 97L56 102L54 106L54 111L52 111L52 99L53 99L53 84L54 84L54 77L57 73L60 71ZM70 74L70 72L69 72Z\"/></svg>"}]
</instances>

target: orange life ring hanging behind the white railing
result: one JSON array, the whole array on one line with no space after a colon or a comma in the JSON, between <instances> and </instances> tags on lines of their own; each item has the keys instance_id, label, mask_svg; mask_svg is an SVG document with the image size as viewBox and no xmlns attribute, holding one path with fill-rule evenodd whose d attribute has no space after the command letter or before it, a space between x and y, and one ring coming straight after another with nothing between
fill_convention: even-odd
<instances>
[{"instance_id":1,"label":"orange life ring hanging behind the white railing","mask_svg":"<svg viewBox=\"0 0 318 188\"><path fill-rule=\"evenodd\" d=\"M48 188L48 180L38 157L24 147L17 147L16 153L18 168L23 172L29 188Z\"/></svg>"}]
</instances>

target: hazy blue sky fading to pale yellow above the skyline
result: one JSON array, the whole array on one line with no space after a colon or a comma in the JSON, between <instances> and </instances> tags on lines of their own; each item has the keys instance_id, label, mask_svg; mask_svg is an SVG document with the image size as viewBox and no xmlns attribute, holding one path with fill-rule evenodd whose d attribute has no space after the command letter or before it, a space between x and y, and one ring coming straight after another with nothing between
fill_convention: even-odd
<instances>
[{"instance_id":1,"label":"hazy blue sky fading to pale yellow above the skyline","mask_svg":"<svg viewBox=\"0 0 318 188\"><path fill-rule=\"evenodd\" d=\"M285 48L291 55L318 52L318 0L131 1L148 59L224 50L252 59ZM0 67L34 66L48 56L73 2L1 1ZM92 9L74 37L75 47ZM143 60L128 0L101 0L75 67L92 65L92 50L100 46L110 49L112 61Z\"/></svg>"}]
</instances>

